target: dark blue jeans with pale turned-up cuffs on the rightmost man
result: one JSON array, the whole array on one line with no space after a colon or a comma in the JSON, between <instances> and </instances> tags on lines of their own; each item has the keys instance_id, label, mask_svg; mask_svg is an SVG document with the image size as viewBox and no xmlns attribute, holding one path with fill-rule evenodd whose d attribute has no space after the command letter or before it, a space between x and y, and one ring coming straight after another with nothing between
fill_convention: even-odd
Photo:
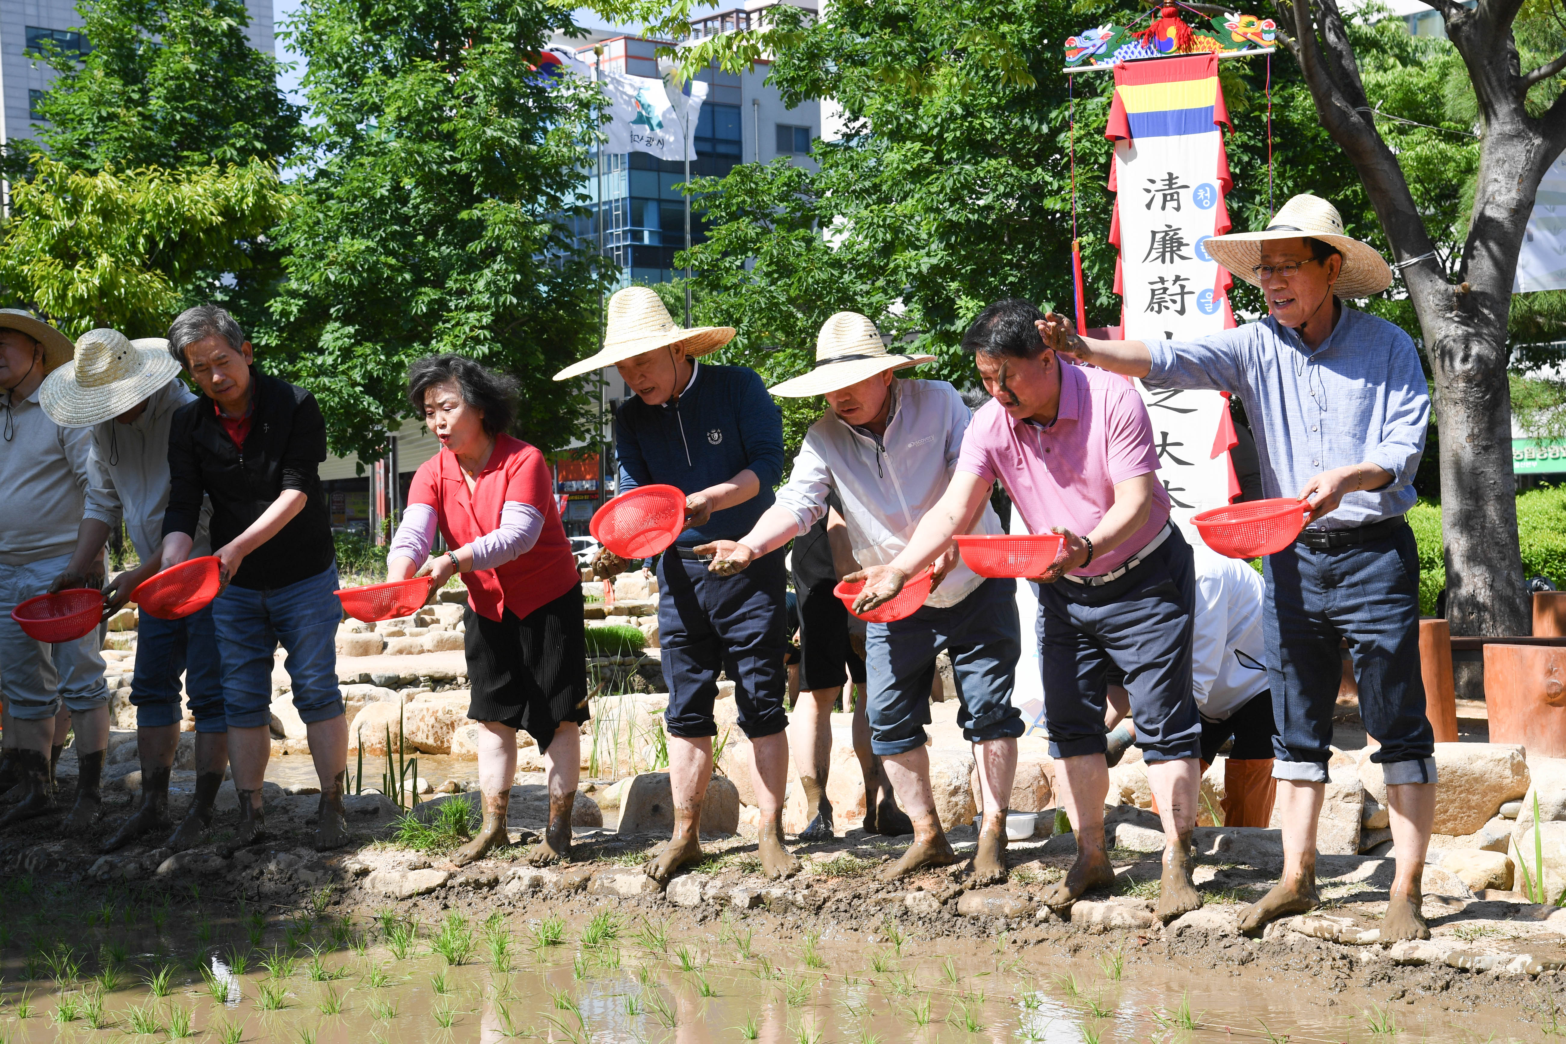
<instances>
[{"instance_id":1,"label":"dark blue jeans with pale turned-up cuffs on the rightmost man","mask_svg":"<svg viewBox=\"0 0 1566 1044\"><path fill-rule=\"evenodd\" d=\"M1387 783L1434 783L1434 733L1419 673L1419 549L1406 526L1348 548L1292 545L1267 556L1262 634L1272 678L1273 776L1325 783L1348 639L1359 717ZM1140 722L1138 722L1140 725Z\"/></svg>"}]
</instances>

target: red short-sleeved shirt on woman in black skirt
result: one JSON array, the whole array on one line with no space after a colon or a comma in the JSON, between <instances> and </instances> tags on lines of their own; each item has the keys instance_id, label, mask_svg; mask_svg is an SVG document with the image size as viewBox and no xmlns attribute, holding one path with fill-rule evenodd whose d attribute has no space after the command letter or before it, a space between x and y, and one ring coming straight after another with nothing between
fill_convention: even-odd
<instances>
[{"instance_id":1,"label":"red short-sleeved shirt on woman in black skirt","mask_svg":"<svg viewBox=\"0 0 1566 1044\"><path fill-rule=\"evenodd\" d=\"M520 438L500 435L470 496L456 454L442 449L420 465L407 495L409 504L435 509L448 548L460 548L500 529L506 501L537 510L543 517L543 531L531 551L493 570L462 574L473 612L490 620L500 620L506 609L518 620L526 618L581 582L554 501L554 477L543 454Z\"/></svg>"}]
</instances>

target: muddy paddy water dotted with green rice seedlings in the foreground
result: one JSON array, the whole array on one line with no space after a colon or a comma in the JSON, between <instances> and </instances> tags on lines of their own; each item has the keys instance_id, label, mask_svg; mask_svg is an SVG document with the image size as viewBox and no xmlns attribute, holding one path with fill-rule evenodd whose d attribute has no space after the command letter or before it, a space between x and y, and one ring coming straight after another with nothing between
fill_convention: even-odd
<instances>
[{"instance_id":1,"label":"muddy paddy water dotted with green rice seedlings in the foreground","mask_svg":"<svg viewBox=\"0 0 1566 1044\"><path fill-rule=\"evenodd\" d=\"M1538 1038L1536 1027L1427 1003L1334 999L1303 977L1189 972L1126 950L1066 959L1004 936L915 941L872 922L781 942L744 922L681 931L678 917L611 906L594 922L453 914L410 925L6 892L0 1039L17 1042Z\"/></svg>"}]
</instances>

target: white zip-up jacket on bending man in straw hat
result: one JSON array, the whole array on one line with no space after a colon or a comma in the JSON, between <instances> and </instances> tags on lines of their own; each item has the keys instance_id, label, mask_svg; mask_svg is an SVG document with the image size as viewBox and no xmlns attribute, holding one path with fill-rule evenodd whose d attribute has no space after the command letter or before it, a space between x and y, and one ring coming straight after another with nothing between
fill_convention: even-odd
<instances>
[{"instance_id":1,"label":"white zip-up jacket on bending man in straw hat","mask_svg":"<svg viewBox=\"0 0 1566 1044\"><path fill-rule=\"evenodd\" d=\"M972 413L944 380L893 380L891 413L880 437L853 427L830 409L805 432L794 471L778 490L778 506L810 532L827 513L827 495L836 490L843 521L860 567L886 565L908 546L924 513L935 507L957 470L957 454ZM994 509L968 532L1004 532ZM962 559L926 606L949 607L971 595L983 579Z\"/></svg>"}]
</instances>

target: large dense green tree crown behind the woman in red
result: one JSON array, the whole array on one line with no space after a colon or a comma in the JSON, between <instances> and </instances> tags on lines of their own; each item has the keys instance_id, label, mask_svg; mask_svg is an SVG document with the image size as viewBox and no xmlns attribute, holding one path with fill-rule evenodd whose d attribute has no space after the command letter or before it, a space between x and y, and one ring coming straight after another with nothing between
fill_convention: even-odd
<instances>
[{"instance_id":1,"label":"large dense green tree crown behind the woman in red","mask_svg":"<svg viewBox=\"0 0 1566 1044\"><path fill-rule=\"evenodd\" d=\"M603 99L526 61L570 28L547 0L307 0L285 23L309 63L310 169L262 340L288 346L337 452L381 454L407 365L432 352L517 376L515 430L540 448L584 430L586 385L551 374L597 332L603 261L565 219Z\"/></svg>"}]
</instances>

